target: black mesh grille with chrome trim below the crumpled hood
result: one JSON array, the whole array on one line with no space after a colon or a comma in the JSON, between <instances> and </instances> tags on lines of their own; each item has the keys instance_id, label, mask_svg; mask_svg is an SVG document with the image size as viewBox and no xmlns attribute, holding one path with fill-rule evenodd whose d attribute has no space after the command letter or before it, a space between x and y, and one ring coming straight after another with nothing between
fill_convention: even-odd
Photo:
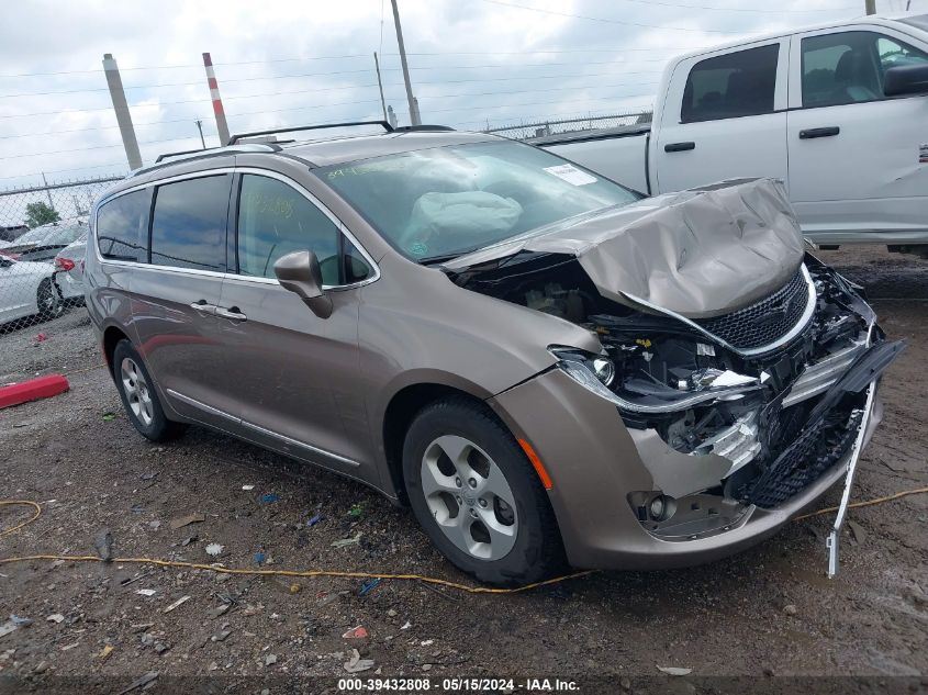
<instances>
[{"instance_id":1,"label":"black mesh grille with chrome trim below the crumpled hood","mask_svg":"<svg viewBox=\"0 0 928 695\"><path fill-rule=\"evenodd\" d=\"M808 304L808 289L802 268L770 296L724 316L696 323L729 345L750 350L775 343L798 323Z\"/></svg>"}]
</instances>

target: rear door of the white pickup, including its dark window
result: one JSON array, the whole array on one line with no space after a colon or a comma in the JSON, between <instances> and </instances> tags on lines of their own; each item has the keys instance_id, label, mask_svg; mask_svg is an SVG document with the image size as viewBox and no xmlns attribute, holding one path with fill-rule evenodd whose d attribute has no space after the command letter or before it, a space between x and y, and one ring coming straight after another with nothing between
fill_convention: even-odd
<instances>
[{"instance_id":1,"label":"rear door of the white pickup, including its dark window","mask_svg":"<svg viewBox=\"0 0 928 695\"><path fill-rule=\"evenodd\" d=\"M651 144L652 192L786 178L789 47L789 37L762 41L673 68Z\"/></svg>"}]
</instances>

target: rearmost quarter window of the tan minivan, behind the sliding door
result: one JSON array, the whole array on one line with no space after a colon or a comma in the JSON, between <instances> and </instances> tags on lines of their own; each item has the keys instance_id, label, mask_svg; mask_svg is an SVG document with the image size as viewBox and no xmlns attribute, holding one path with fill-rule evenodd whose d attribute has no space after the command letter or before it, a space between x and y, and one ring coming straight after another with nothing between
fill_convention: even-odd
<instances>
[{"instance_id":1,"label":"rearmost quarter window of the tan minivan, behind the sliding door","mask_svg":"<svg viewBox=\"0 0 928 695\"><path fill-rule=\"evenodd\" d=\"M97 246L111 260L148 260L148 210L152 191L120 195L97 211Z\"/></svg>"}]
</instances>

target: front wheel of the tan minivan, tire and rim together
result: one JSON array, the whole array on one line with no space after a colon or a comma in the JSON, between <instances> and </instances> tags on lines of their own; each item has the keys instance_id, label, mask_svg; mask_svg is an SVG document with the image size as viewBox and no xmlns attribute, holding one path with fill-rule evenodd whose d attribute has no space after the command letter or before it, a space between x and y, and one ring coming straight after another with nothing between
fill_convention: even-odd
<instances>
[{"instance_id":1,"label":"front wheel of the tan minivan, tire and rim together","mask_svg":"<svg viewBox=\"0 0 928 695\"><path fill-rule=\"evenodd\" d=\"M438 550L481 582L522 585L564 565L547 493L515 438L482 403L450 397L410 426L403 477Z\"/></svg>"}]
</instances>

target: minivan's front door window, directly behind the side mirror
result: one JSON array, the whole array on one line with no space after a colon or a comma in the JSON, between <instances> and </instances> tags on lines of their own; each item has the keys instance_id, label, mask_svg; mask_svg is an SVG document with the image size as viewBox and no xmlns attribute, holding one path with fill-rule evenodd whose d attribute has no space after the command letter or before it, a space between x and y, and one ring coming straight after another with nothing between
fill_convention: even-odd
<instances>
[{"instance_id":1,"label":"minivan's front door window, directly behind the side mirror","mask_svg":"<svg viewBox=\"0 0 928 695\"><path fill-rule=\"evenodd\" d=\"M328 216L291 186L264 176L242 177L238 199L238 272L273 278L275 261L292 251L311 250L323 284L342 284L340 232Z\"/></svg>"}]
</instances>

